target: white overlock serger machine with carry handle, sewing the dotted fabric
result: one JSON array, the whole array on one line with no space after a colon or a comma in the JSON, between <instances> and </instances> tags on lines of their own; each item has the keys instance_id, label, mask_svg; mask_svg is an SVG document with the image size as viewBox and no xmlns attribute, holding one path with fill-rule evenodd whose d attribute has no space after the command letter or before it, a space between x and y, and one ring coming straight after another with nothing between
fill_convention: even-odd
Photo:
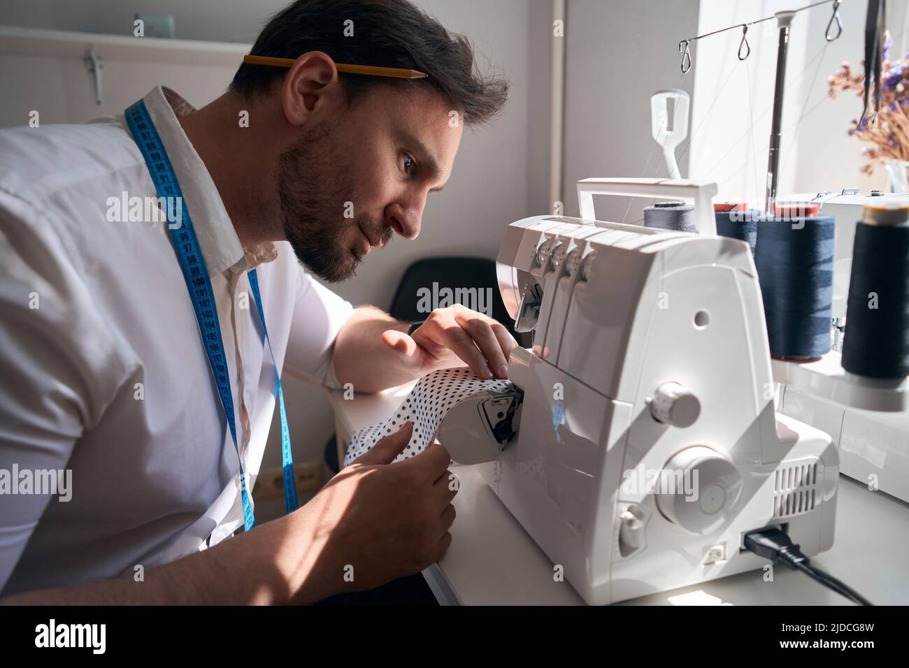
<instances>
[{"instance_id":1,"label":"white overlock serger machine with carry handle, sewing the dotted fabric","mask_svg":"<svg viewBox=\"0 0 909 668\"><path fill-rule=\"evenodd\" d=\"M499 285L532 350L513 392L459 405L437 432L587 603L614 603L767 560L744 534L834 541L839 464L824 432L774 412L747 244L715 236L715 184L578 183L582 218L508 226ZM701 234L594 220L594 194L693 201ZM461 451L461 452L459 452Z\"/></svg>"}]
</instances>

